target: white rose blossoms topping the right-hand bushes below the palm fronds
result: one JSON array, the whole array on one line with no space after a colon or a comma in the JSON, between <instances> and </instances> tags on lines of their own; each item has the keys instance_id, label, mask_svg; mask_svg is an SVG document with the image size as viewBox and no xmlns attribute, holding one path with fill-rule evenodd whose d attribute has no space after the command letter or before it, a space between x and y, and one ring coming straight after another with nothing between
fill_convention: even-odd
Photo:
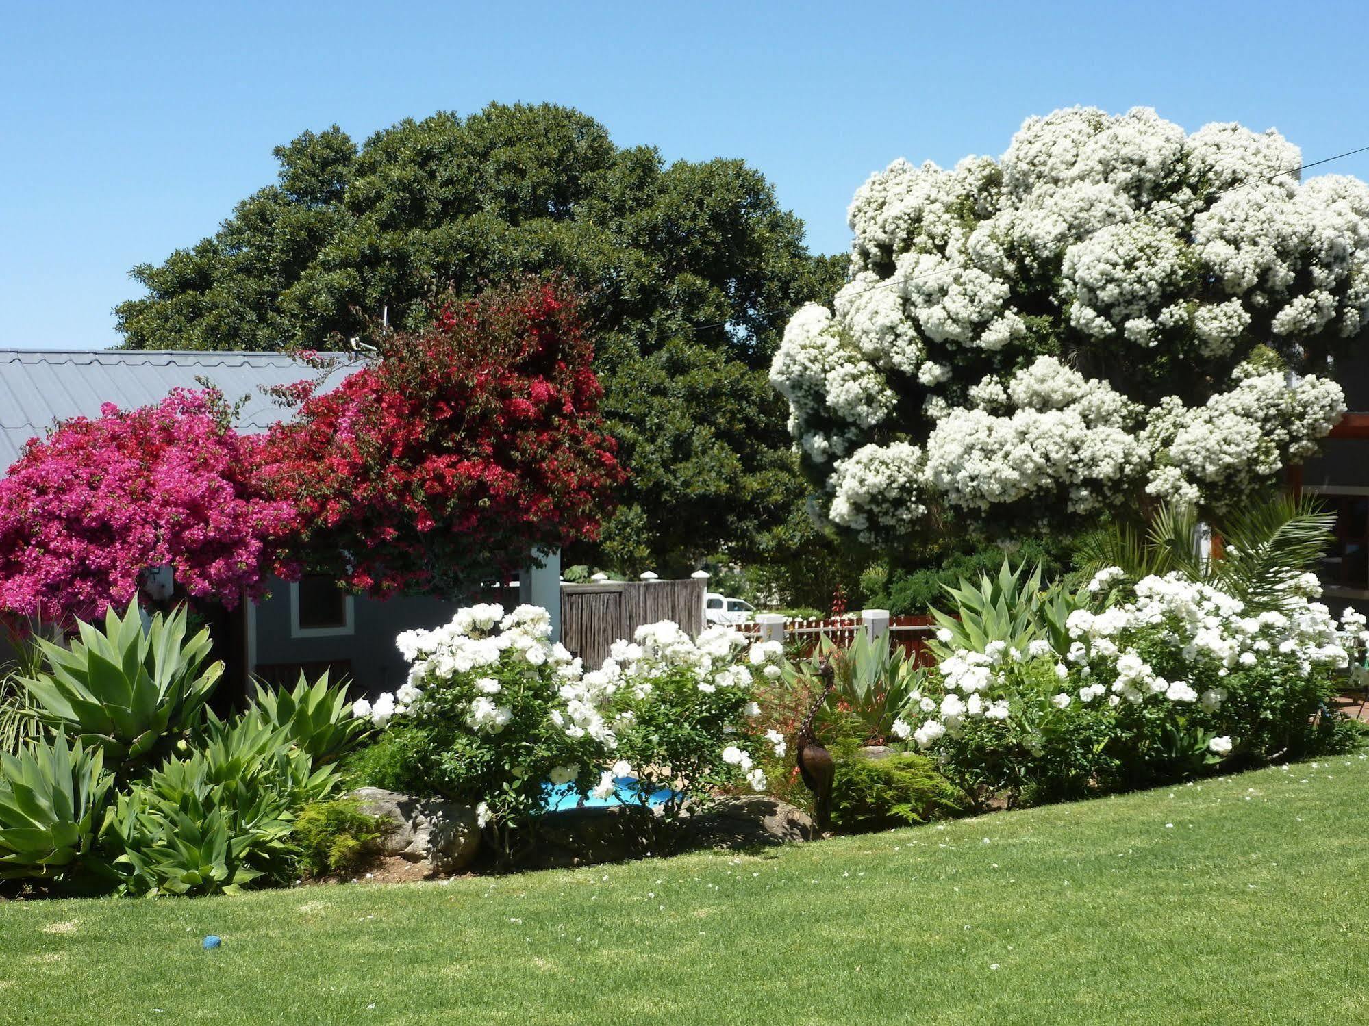
<instances>
[{"instance_id":1,"label":"white rose blossoms topping the right-hand bushes below the palm fronds","mask_svg":"<svg viewBox=\"0 0 1369 1026\"><path fill-rule=\"evenodd\" d=\"M1090 591L1106 590L1123 576L1120 569L1108 568L1094 577ZM927 747L945 735L957 736L969 720L1008 720L1021 713L1020 703L1031 696L1017 691L1010 673L1036 661L1060 681L1060 691L1050 698L1054 709L1076 702L1112 707L1165 702L1214 713L1228 691L1213 681L1235 670L1277 659L1288 673L1307 676L1314 668L1346 666L1348 653L1369 642L1361 614L1347 609L1338 624L1324 605L1306 598L1316 591L1314 579L1299 577L1288 592L1303 598L1291 601L1285 611L1247 613L1239 599L1181 575L1144 577L1131 602L1098 613L1071 613L1071 644L1062 655L1045 640L1031 642L1025 651L1003 642L990 642L983 653L954 651L938 665L941 696L914 695L921 724L913 729L904 722L901 732ZM1142 654L1143 648L1154 651L1157 643L1166 655L1177 657L1172 665L1183 665L1186 676L1209 685L1199 691L1190 680L1161 676ZM1229 751L1231 739L1220 741L1213 751L1224 754L1223 746Z\"/></svg>"}]
</instances>

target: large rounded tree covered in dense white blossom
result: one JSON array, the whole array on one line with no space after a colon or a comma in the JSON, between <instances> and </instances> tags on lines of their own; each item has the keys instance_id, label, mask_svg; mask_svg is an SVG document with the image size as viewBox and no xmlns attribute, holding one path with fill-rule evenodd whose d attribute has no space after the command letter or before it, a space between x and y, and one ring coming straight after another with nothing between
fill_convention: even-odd
<instances>
[{"instance_id":1,"label":"large rounded tree covered in dense white blossom","mask_svg":"<svg viewBox=\"0 0 1369 1026\"><path fill-rule=\"evenodd\" d=\"M850 282L771 368L819 513L884 542L1268 488L1344 412L1328 361L1369 315L1369 187L1301 163L1073 108L998 160L873 175Z\"/></svg>"}]
</instances>

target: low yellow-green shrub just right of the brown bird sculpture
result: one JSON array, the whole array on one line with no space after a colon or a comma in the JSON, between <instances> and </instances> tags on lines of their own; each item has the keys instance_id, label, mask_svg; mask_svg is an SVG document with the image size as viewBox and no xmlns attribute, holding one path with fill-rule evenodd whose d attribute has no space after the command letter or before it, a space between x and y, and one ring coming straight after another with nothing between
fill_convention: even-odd
<instances>
[{"instance_id":1,"label":"low yellow-green shrub just right of the brown bird sculpture","mask_svg":"<svg viewBox=\"0 0 1369 1026\"><path fill-rule=\"evenodd\" d=\"M954 788L931 759L909 752L869 759L858 752L853 744L834 752L832 826L838 833L921 824L958 808Z\"/></svg>"}]
</instances>

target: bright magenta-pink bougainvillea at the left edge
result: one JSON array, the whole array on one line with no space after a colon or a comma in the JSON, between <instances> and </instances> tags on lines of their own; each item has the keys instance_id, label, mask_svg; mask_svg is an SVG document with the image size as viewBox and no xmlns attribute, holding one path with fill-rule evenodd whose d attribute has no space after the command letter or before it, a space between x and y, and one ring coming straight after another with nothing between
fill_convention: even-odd
<instances>
[{"instance_id":1,"label":"bright magenta-pink bougainvillea at the left edge","mask_svg":"<svg viewBox=\"0 0 1369 1026\"><path fill-rule=\"evenodd\" d=\"M0 611L70 624L127 603L164 565L178 594L259 598L287 570L294 508L267 497L255 440L226 421L216 393L177 390L30 442L0 480Z\"/></svg>"}]
</instances>

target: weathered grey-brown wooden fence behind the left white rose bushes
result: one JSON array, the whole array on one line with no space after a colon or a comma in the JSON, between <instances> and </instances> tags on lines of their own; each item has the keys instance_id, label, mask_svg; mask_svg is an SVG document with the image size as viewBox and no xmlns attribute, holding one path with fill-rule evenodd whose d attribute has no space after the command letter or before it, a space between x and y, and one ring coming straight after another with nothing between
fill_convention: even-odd
<instances>
[{"instance_id":1,"label":"weathered grey-brown wooden fence behind the left white rose bushes","mask_svg":"<svg viewBox=\"0 0 1369 1026\"><path fill-rule=\"evenodd\" d=\"M563 584L561 644L593 668L608 658L613 642L631 640L643 624L674 620L689 635L698 635L705 587L702 580Z\"/></svg>"}]
</instances>

